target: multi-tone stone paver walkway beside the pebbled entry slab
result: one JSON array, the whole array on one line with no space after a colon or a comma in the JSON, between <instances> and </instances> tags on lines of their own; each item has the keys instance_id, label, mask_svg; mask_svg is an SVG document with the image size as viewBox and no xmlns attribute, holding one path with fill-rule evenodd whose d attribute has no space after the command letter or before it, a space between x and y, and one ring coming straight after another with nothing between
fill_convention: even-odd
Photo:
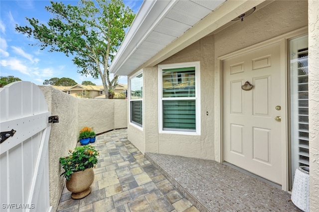
<instances>
[{"instance_id":1,"label":"multi-tone stone paver walkway beside the pebbled entry slab","mask_svg":"<svg viewBox=\"0 0 319 212\"><path fill-rule=\"evenodd\" d=\"M127 140L127 129L97 136L100 152L92 192L71 199L64 188L58 212L198 212Z\"/></svg>"}]
</instances>

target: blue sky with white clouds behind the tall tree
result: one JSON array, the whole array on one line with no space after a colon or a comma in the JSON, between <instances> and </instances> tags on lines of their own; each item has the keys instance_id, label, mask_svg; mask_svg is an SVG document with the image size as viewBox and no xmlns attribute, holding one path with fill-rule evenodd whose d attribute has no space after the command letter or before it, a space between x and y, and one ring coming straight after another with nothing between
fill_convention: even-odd
<instances>
[{"instance_id":1,"label":"blue sky with white clouds behind the tall tree","mask_svg":"<svg viewBox=\"0 0 319 212\"><path fill-rule=\"evenodd\" d=\"M59 0L64 4L74 4L77 0ZM143 0L124 0L135 13L138 12ZM77 73L77 67L72 57L61 52L48 52L48 48L40 50L33 38L15 31L15 24L25 26L25 17L36 18L40 22L47 22L51 13L45 6L51 5L49 0L0 0L0 76L14 76L23 81L30 81L42 85L44 80L52 77L67 77L78 84L83 81L92 81L102 85L101 79L85 77ZM120 77L119 83L127 84L127 77Z\"/></svg>"}]
</instances>

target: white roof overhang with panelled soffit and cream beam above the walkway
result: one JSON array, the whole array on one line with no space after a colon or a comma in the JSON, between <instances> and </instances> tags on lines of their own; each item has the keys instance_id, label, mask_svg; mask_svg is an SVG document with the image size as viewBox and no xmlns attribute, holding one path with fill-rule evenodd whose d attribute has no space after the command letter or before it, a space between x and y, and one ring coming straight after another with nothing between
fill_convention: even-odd
<instances>
[{"instance_id":1,"label":"white roof overhang with panelled soffit and cream beam above the walkway","mask_svg":"<svg viewBox=\"0 0 319 212\"><path fill-rule=\"evenodd\" d=\"M144 0L110 65L115 75L155 66L265 0ZM260 6L261 8L262 6Z\"/></svg>"}]
</instances>

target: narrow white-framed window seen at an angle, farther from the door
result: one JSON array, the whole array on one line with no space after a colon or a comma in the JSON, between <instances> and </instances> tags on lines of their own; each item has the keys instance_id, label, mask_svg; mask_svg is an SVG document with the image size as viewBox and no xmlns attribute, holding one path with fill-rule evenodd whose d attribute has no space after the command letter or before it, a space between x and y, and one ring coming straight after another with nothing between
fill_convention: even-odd
<instances>
[{"instance_id":1,"label":"narrow white-framed window seen at an angle, farther from the door","mask_svg":"<svg viewBox=\"0 0 319 212\"><path fill-rule=\"evenodd\" d=\"M130 122L143 126L143 73L130 77Z\"/></svg>"}]
</instances>

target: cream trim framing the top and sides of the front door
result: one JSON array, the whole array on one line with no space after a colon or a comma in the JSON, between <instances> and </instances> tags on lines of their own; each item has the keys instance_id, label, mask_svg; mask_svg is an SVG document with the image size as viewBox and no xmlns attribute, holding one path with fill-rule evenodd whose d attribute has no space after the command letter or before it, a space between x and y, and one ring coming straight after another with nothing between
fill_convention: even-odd
<instances>
[{"instance_id":1,"label":"cream trim framing the top and sides of the front door","mask_svg":"<svg viewBox=\"0 0 319 212\"><path fill-rule=\"evenodd\" d=\"M282 127L282 190L288 191L289 188L289 171L290 171L290 164L289 164L289 121L288 121L288 104L289 104L289 97L288 97L288 86L289 86L289 80L288 80L288 45L287 42L289 39L301 35L308 34L308 26L296 29L294 31L279 35L277 37L265 40L263 42L254 44L252 46L240 49L235 52L231 52L229 54L216 57L215 58L215 82L214 82L214 90L215 90L215 95L214 95L214 107L215 107L215 112L214 112L214 146L215 146L215 160L217 162L223 162L223 137L222 137L222 124L223 124L223 89L222 89L222 82L223 82L223 77L222 77L222 71L221 71L221 62L222 60L235 57L241 54L245 54L248 52L252 52L254 50L262 49L264 47L268 47L274 44L280 44L280 51L281 51L281 57L283 58L282 61L280 62L280 67L281 67L281 79L284 81L284 83L281 85L281 95L282 97L282 102L281 105L282 107L282 113L285 114L284 118L282 119L282 122L285 122Z\"/></svg>"}]
</instances>

